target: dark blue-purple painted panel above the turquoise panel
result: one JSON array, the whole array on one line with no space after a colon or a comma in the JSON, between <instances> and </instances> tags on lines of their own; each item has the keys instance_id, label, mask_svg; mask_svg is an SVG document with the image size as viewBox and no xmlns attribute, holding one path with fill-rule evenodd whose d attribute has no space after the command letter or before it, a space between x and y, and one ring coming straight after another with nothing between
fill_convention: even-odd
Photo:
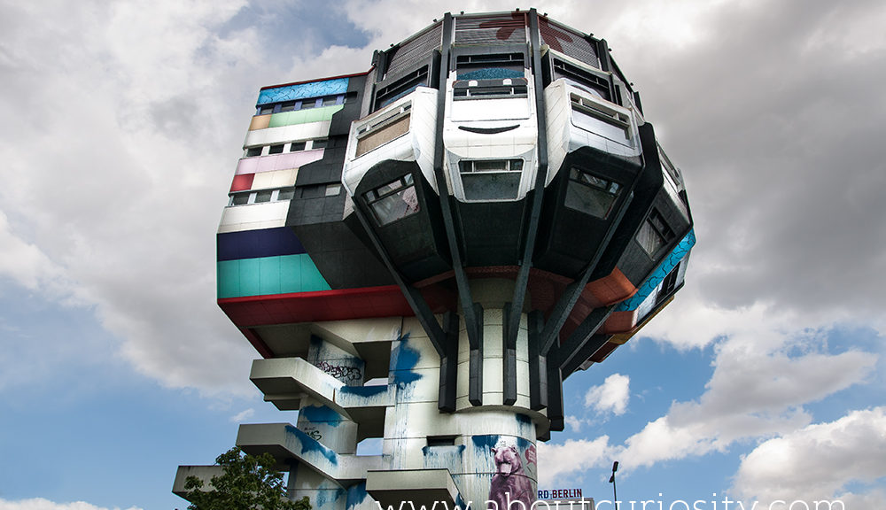
<instances>
[{"instance_id":1,"label":"dark blue-purple painted panel above the turquoise panel","mask_svg":"<svg viewBox=\"0 0 886 510\"><path fill-rule=\"evenodd\" d=\"M287 227L219 234L215 245L219 261L305 253L299 238Z\"/></svg>"}]
</instances>

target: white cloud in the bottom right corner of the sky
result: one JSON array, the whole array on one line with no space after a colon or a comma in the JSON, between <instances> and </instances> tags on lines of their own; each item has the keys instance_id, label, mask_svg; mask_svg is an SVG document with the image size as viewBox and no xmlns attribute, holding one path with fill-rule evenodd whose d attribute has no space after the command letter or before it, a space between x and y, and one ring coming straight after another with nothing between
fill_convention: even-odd
<instances>
[{"instance_id":1,"label":"white cloud in the bottom right corner of the sky","mask_svg":"<svg viewBox=\"0 0 886 510\"><path fill-rule=\"evenodd\" d=\"M879 493L851 494L851 482L874 483L886 477L886 407L853 411L828 423L816 423L759 444L742 459L734 490L745 498L845 498L859 505L882 506ZM876 499L873 506L860 505ZM847 502L844 501L844 502Z\"/></svg>"}]
</instances>

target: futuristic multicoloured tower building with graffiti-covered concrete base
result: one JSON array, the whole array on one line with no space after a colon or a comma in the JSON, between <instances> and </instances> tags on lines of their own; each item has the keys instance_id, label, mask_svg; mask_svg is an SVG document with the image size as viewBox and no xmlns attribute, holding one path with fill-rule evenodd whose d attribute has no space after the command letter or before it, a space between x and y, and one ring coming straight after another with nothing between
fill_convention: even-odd
<instances>
[{"instance_id":1,"label":"futuristic multicoloured tower building with graffiti-covered concrete base","mask_svg":"<svg viewBox=\"0 0 886 510\"><path fill-rule=\"evenodd\" d=\"M534 10L446 14L366 73L261 89L244 150L218 303L299 413L237 445L315 508L532 503L563 379L670 302L695 243L606 42Z\"/></svg>"}]
</instances>

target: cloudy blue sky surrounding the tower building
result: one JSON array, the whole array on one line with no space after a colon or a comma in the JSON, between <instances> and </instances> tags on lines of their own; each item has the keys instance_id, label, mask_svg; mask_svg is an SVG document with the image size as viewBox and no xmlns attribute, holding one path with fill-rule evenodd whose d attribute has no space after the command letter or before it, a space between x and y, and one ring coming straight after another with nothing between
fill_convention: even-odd
<instances>
[{"instance_id":1,"label":"cloudy blue sky surrounding the tower building","mask_svg":"<svg viewBox=\"0 0 886 510\"><path fill-rule=\"evenodd\" d=\"M258 89L514 7L0 0L0 510L183 508L176 466L294 420L214 304ZM537 7L610 42L698 236L677 300L567 381L540 488L608 498L619 460L619 498L664 507L882 506L886 3Z\"/></svg>"}]
</instances>

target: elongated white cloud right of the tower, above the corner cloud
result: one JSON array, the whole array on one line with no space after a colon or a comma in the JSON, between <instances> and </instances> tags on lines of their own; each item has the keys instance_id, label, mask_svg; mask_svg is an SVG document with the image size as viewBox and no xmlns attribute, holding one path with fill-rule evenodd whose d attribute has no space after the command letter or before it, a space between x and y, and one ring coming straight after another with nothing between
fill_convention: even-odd
<instances>
[{"instance_id":1,"label":"elongated white cloud right of the tower, above the corner cloud","mask_svg":"<svg viewBox=\"0 0 886 510\"><path fill-rule=\"evenodd\" d=\"M820 333L781 330L765 308L726 314L735 328L716 345L714 373L694 401L674 402L668 413L626 440L636 466L724 452L736 441L787 434L812 421L804 405L864 383L877 356L827 352Z\"/></svg>"}]
</instances>

